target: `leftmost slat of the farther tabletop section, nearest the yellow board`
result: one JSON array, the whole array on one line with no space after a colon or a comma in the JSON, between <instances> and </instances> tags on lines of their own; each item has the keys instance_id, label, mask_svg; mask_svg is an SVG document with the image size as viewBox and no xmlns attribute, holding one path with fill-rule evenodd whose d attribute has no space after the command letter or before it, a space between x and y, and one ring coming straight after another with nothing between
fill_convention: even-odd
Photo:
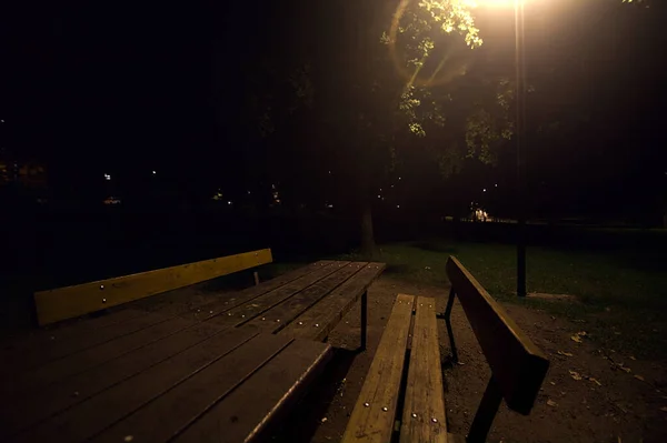
<instances>
[{"instance_id":1,"label":"leftmost slat of the farther tabletop section, nearest the yellow board","mask_svg":"<svg viewBox=\"0 0 667 443\"><path fill-rule=\"evenodd\" d=\"M330 260L320 260L316 263L311 263L306 266L296 269L293 271L286 272L285 274L279 275L276 279L271 279L267 282L263 282L257 286L250 286L233 294L225 294L222 296L222 300L218 300L192 309L191 312L188 313L188 318L203 320L209 316L217 315L221 312L227 312L232 308L239 306L253 299L257 299L260 295L277 290L278 288L281 288L288 283L291 283L297 279L306 276L317 270L321 270L322 268L326 268L331 263L332 261Z\"/></svg>"}]
</instances>

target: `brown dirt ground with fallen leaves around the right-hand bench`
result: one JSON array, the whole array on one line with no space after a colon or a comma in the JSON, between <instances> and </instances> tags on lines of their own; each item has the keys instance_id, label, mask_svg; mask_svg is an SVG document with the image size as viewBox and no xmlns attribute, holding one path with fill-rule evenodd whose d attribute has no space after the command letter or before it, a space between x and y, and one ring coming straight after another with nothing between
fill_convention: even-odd
<instances>
[{"instance_id":1,"label":"brown dirt ground with fallen leaves around the right-hand bench","mask_svg":"<svg viewBox=\"0 0 667 443\"><path fill-rule=\"evenodd\" d=\"M339 352L275 441L339 441L396 294L434 296L438 312L442 312L447 291L385 276L378 280L369 291L367 352ZM585 322L570 322L511 304L505 308L547 354L551 365L531 414L522 416L501 405L489 442L667 442L665 362L641 361L614 350L601 350L591 335L581 335L581 343L577 343L571 336L586 331ZM329 342L356 349L359 316L359 309L352 310ZM441 354L447 356L445 322L438 323ZM450 432L466 434L490 372L458 303L452 325L462 364L444 370L447 419Z\"/></svg>"}]
</instances>

